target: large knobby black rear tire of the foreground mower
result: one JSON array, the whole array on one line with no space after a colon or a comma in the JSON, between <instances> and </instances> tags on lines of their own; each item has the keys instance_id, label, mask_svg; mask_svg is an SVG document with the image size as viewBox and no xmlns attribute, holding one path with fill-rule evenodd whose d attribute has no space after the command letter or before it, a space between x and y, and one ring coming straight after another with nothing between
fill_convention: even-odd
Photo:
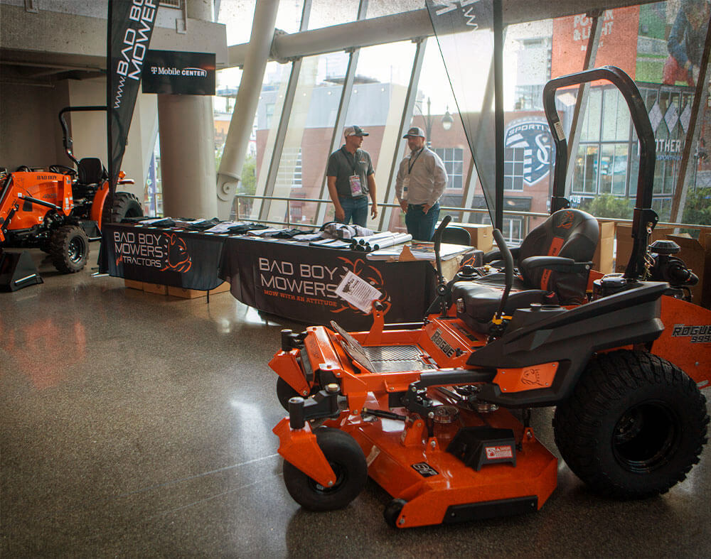
<instances>
[{"instance_id":1,"label":"large knobby black rear tire of the foreground mower","mask_svg":"<svg viewBox=\"0 0 711 559\"><path fill-rule=\"evenodd\" d=\"M619 499L663 494L685 479L706 443L706 398L656 355L621 350L592 360L553 416L570 470Z\"/></svg>"}]
</instances>

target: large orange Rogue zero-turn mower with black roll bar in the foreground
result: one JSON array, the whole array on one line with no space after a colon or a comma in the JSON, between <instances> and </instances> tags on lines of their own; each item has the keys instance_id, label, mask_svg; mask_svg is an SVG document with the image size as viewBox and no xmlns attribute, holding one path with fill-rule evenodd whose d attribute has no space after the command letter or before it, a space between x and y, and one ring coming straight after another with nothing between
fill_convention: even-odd
<instances>
[{"instance_id":1,"label":"large orange Rogue zero-turn mower with black roll bar in the foreground","mask_svg":"<svg viewBox=\"0 0 711 559\"><path fill-rule=\"evenodd\" d=\"M289 416L274 433L284 483L305 509L346 506L368 476L392 496L384 514L397 528L540 509L558 468L530 424L541 406L556 408L563 460L602 494L661 494L698 462L711 311L684 300L695 276L668 258L673 247L653 256L647 246L655 143L636 85L614 67L557 78L544 89L547 119L566 153L555 90L601 79L624 95L641 146L624 275L600 274L588 290L599 229L567 207L559 157L552 215L516 260L495 229L503 268L461 271L449 284L440 271L438 312L418 330L388 330L378 302L368 332L335 322L284 330L269 366Z\"/></svg>"}]
</instances>

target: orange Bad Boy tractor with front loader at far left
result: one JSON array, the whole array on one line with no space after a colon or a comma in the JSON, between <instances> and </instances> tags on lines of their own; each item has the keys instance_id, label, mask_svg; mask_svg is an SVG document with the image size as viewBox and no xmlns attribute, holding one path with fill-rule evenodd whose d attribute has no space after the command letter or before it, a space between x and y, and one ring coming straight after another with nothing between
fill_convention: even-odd
<instances>
[{"instance_id":1,"label":"orange Bad Boy tractor with front loader at far left","mask_svg":"<svg viewBox=\"0 0 711 559\"><path fill-rule=\"evenodd\" d=\"M64 147L76 169L52 165L48 170L0 170L0 250L6 247L39 247L50 254L60 272L84 268L89 241L100 239L103 219L120 222L143 215L137 197L129 192L114 195L112 211L105 208L108 174L97 158L77 161L64 114L73 111L106 111L106 107L65 107L59 113ZM119 185L133 184L119 173Z\"/></svg>"}]
</instances>

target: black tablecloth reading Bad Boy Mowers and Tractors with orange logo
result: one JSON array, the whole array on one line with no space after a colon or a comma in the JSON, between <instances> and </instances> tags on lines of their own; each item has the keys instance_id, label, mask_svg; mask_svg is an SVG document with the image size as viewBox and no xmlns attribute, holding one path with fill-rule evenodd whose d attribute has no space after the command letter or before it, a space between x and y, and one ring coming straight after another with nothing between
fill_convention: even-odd
<instances>
[{"instance_id":1,"label":"black tablecloth reading Bad Boy Mowers and Tractors with orange logo","mask_svg":"<svg viewBox=\"0 0 711 559\"><path fill-rule=\"evenodd\" d=\"M111 276L200 291L223 282L227 236L127 224L107 224L102 234Z\"/></svg>"}]
</instances>

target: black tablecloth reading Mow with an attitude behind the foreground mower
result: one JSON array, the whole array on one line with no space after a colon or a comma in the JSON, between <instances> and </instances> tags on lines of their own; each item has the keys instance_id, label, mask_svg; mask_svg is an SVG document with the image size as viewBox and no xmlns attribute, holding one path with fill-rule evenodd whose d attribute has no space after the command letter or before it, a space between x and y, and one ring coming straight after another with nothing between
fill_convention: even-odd
<instances>
[{"instance_id":1,"label":"black tablecloth reading Mow with an attitude behind the foreground mower","mask_svg":"<svg viewBox=\"0 0 711 559\"><path fill-rule=\"evenodd\" d=\"M230 237L220 278L238 300L265 313L309 324L336 320L348 330L368 330L373 319L336 295L348 271L383 293L385 322L418 322L435 296L429 261L369 261L365 252L304 246L296 241Z\"/></svg>"}]
</instances>

